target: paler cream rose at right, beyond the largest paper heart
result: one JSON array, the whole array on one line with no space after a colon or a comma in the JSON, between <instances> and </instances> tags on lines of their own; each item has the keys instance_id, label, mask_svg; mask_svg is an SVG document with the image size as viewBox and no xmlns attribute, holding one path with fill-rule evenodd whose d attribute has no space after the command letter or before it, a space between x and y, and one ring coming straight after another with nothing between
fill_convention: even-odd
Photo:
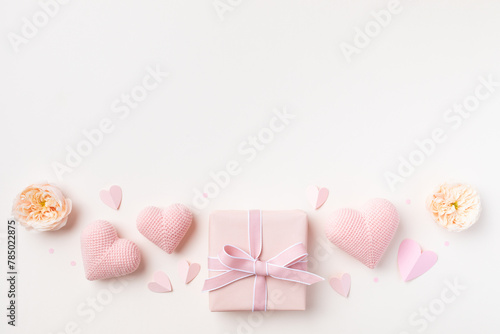
<instances>
[{"instance_id":1,"label":"paler cream rose at right, beyond the largest paper heart","mask_svg":"<svg viewBox=\"0 0 500 334\"><path fill-rule=\"evenodd\" d=\"M441 184L426 205L438 225L455 232L471 227L481 213L476 190L463 184Z\"/></svg>"}]
</instances>

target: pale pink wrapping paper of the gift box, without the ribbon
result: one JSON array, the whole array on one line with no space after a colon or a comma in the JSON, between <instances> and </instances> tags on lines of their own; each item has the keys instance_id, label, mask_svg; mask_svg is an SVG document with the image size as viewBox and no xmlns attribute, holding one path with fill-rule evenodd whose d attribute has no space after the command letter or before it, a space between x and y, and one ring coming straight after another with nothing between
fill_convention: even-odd
<instances>
[{"instance_id":1,"label":"pale pink wrapping paper of the gift box, without the ribbon","mask_svg":"<svg viewBox=\"0 0 500 334\"><path fill-rule=\"evenodd\" d=\"M291 245L307 249L307 215L301 210L261 211L262 251L267 261ZM248 211L215 211L210 215L209 257L217 257L225 245L249 252ZM307 262L299 263L307 270ZM209 277L217 276L209 271ZM254 277L246 277L209 292L210 311L252 311ZM267 310L305 310L306 285L267 276Z\"/></svg>"}]
</instances>

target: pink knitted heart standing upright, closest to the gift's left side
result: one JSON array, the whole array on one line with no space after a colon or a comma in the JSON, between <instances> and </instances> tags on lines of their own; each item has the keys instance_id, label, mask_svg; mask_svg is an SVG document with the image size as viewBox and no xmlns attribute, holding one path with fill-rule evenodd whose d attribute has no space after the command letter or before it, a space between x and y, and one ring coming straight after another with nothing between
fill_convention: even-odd
<instances>
[{"instance_id":1,"label":"pink knitted heart standing upright, closest to the gift's left side","mask_svg":"<svg viewBox=\"0 0 500 334\"><path fill-rule=\"evenodd\" d=\"M137 229L152 243L171 254L186 235L193 214L182 204L166 209L149 206L139 213Z\"/></svg>"}]
</instances>

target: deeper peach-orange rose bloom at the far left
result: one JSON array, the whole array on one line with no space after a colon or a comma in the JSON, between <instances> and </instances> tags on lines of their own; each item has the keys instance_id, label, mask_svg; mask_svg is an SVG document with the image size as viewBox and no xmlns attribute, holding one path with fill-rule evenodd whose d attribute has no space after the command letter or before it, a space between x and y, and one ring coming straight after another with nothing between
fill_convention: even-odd
<instances>
[{"instance_id":1,"label":"deeper peach-orange rose bloom at the far left","mask_svg":"<svg viewBox=\"0 0 500 334\"><path fill-rule=\"evenodd\" d=\"M33 184L14 200L12 215L27 230L55 231L66 225L71 200L50 184Z\"/></svg>"}]
</instances>

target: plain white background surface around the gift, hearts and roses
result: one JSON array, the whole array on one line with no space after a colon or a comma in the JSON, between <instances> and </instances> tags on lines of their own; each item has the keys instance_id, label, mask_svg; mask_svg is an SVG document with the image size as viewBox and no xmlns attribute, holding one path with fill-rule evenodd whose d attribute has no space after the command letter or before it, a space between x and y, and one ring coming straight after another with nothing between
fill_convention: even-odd
<instances>
[{"instance_id":1,"label":"plain white background surface around the gift, hearts and roses","mask_svg":"<svg viewBox=\"0 0 500 334\"><path fill-rule=\"evenodd\" d=\"M444 114L474 93L480 76L500 81L500 4L402 1L401 13L349 63L339 45L352 44L356 27L384 8L386 1L242 1L221 20L211 0L72 0L15 52L8 34L21 34L23 17L31 19L40 6L2 0L1 219L10 217L13 198L31 183L53 182L74 203L63 230L19 228L18 327L6 329L2 311L2 333L65 333L71 323L75 333L496 332L500 88L458 129ZM113 101L156 66L169 77L120 119ZM295 118L247 162L238 146L268 126L275 108ZM114 131L58 180L51 165L64 163L66 146L74 149L85 139L82 131L103 118L114 122ZM391 191L384 173L397 172L398 157L407 158L417 149L414 141L435 128L444 129L447 140ZM241 173L206 208L194 208L193 189L201 190L210 172L230 160L241 163ZM447 232L426 212L425 198L443 181L472 184L481 194L482 217L470 230ZM119 211L98 196L113 184L123 188ZM330 189L318 211L305 197L310 184ZM326 240L323 228L334 209L358 208L371 197L391 200L401 215L380 265L370 270L331 246L316 270L324 277L350 273L348 299L323 282L308 289L305 312L263 319L208 311L200 290L212 210L306 210L314 251ZM167 255L137 231L135 218L147 205L174 202L190 205L196 219L179 250ZM88 310L88 298L109 289L109 282L87 281L81 262L80 232L98 218L136 242L143 262L88 321L77 309ZM408 283L396 265L405 238L439 256L434 268ZM1 254L4 277L5 238ZM202 264L189 285L177 274L180 259ZM172 293L147 289L157 270L170 276ZM439 304L446 280L465 289L424 321L425 329L411 324L420 308ZM242 325L248 320L257 325Z\"/></svg>"}]
</instances>

